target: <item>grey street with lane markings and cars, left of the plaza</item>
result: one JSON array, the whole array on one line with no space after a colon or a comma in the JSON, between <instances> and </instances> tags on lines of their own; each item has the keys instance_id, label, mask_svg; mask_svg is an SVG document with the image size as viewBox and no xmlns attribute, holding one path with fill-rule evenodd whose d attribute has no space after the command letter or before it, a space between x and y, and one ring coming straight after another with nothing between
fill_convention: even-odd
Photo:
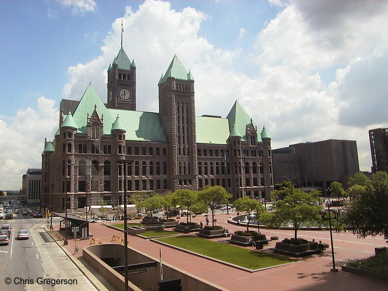
<instances>
[{"instance_id":1,"label":"grey street with lane markings and cars, left of the plaza","mask_svg":"<svg viewBox=\"0 0 388 291\"><path fill-rule=\"evenodd\" d=\"M53 223L59 221L53 218ZM0 224L12 226L9 244L0 245L0 290L96 290L43 229L46 219L14 213ZM21 229L29 230L29 239L17 240Z\"/></svg>"}]
</instances>

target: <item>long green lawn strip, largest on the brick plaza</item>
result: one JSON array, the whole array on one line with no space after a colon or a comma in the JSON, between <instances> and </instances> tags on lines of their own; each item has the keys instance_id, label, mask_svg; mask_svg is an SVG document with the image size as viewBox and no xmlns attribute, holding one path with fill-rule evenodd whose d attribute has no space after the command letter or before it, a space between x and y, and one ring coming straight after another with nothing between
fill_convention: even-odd
<instances>
[{"instance_id":1,"label":"long green lawn strip, largest on the brick plaza","mask_svg":"<svg viewBox=\"0 0 388 291\"><path fill-rule=\"evenodd\" d=\"M252 270L297 261L295 259L190 236L160 238L156 240Z\"/></svg>"}]
</instances>

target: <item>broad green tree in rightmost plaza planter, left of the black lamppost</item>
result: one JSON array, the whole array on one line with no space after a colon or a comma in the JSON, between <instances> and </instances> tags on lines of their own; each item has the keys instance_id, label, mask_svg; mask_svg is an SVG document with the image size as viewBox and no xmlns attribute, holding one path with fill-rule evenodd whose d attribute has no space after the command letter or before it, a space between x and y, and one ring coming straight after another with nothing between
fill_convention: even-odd
<instances>
[{"instance_id":1,"label":"broad green tree in rightmost plaza planter, left of the black lamppost","mask_svg":"<svg viewBox=\"0 0 388 291\"><path fill-rule=\"evenodd\" d=\"M275 202L275 212L269 215L272 224L281 226L291 222L296 240L297 231L302 223L309 225L321 221L319 214L321 207L316 205L318 199L317 194L291 188L283 200Z\"/></svg>"}]
</instances>

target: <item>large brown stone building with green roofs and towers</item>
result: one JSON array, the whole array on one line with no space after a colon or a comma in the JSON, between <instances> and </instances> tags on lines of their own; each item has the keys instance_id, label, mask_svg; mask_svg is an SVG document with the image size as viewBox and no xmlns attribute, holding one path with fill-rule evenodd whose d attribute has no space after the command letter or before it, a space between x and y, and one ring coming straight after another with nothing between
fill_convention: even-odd
<instances>
[{"instance_id":1,"label":"large brown stone building with green roofs and towers","mask_svg":"<svg viewBox=\"0 0 388 291\"><path fill-rule=\"evenodd\" d=\"M194 78L174 56L159 86L159 113L136 111L136 65L121 48L108 68L104 104L92 84L80 101L62 100L59 128L42 153L43 203L64 211L120 205L124 183L174 192L221 185L233 199L270 200L271 137L236 100L226 116L195 115ZM131 160L124 177L124 165Z\"/></svg>"}]
</instances>

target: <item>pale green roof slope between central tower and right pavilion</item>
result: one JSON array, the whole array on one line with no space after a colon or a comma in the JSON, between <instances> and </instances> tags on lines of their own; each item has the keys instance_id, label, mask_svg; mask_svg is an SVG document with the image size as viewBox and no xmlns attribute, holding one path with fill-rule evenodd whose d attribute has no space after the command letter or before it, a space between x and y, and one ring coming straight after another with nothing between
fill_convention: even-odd
<instances>
[{"instance_id":1,"label":"pale green roof slope between central tower and right pavilion","mask_svg":"<svg viewBox=\"0 0 388 291\"><path fill-rule=\"evenodd\" d=\"M195 116L195 133L199 144L227 145L228 121L226 118Z\"/></svg>"}]
</instances>

